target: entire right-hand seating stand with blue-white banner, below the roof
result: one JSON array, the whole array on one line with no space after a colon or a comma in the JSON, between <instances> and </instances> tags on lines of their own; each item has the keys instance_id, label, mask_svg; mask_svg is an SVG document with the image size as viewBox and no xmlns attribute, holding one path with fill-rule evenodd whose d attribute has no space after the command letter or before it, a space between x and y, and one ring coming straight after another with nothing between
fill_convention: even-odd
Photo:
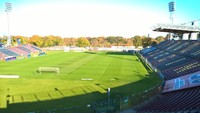
<instances>
[{"instance_id":1,"label":"entire right-hand seating stand with blue-white banner, below the roof","mask_svg":"<svg viewBox=\"0 0 200 113\"><path fill-rule=\"evenodd\" d=\"M200 41L168 40L139 54L163 76L163 88L168 81L172 84L138 113L200 112Z\"/></svg>"}]
</instances>

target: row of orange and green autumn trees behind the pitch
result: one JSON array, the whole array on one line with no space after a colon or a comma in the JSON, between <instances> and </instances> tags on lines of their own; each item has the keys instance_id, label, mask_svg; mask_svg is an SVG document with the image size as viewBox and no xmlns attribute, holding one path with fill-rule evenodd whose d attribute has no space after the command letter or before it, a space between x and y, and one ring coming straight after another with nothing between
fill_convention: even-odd
<instances>
[{"instance_id":1,"label":"row of orange and green autumn trees behind the pitch","mask_svg":"<svg viewBox=\"0 0 200 113\"><path fill-rule=\"evenodd\" d=\"M7 37L0 37L0 42L6 44ZM78 47L111 47L111 46L135 46L147 47L154 46L165 40L165 37L158 36L151 38L147 36L134 36L131 38L124 38L121 36L108 37L79 37L79 38L62 38L60 36L39 36L33 35L31 37L12 36L12 45L18 44L33 44L38 47L51 46L78 46Z\"/></svg>"}]
</instances>

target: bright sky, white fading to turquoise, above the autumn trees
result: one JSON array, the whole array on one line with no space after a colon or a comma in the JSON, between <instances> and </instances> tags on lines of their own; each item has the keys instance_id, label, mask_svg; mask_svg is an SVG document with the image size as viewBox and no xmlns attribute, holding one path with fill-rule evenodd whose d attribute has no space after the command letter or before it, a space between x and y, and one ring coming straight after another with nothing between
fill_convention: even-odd
<instances>
[{"instance_id":1,"label":"bright sky, white fading to turquoise, above the autumn trees","mask_svg":"<svg viewBox=\"0 0 200 113\"><path fill-rule=\"evenodd\" d=\"M200 0L174 1L174 24L200 19ZM152 32L153 25L170 23L171 0L1 0L0 35L8 34L5 2L13 7L11 35L155 37L165 34Z\"/></svg>"}]
</instances>

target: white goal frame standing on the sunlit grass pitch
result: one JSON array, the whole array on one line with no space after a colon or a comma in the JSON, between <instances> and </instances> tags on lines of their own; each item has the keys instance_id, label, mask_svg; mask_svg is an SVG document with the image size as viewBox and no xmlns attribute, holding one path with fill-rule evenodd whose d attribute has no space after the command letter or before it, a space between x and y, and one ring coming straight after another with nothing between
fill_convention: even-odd
<instances>
[{"instance_id":1,"label":"white goal frame standing on the sunlit grass pitch","mask_svg":"<svg viewBox=\"0 0 200 113\"><path fill-rule=\"evenodd\" d=\"M42 72L55 72L60 73L60 70L58 67L39 67L38 72L41 74Z\"/></svg>"}]
</instances>

